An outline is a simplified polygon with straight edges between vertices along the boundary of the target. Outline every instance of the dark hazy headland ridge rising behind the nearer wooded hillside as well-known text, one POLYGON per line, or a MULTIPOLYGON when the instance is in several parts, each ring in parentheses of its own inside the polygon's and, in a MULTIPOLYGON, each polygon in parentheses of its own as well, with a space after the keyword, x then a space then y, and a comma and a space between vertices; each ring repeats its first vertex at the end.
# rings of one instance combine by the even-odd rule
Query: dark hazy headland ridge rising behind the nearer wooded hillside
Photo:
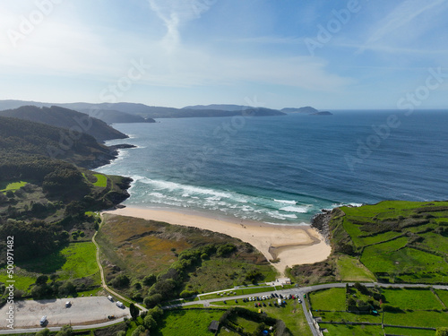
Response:
POLYGON ((13 116, 36 123, 68 128, 73 134, 81 132, 90 134, 99 142, 127 138, 127 135, 110 127, 104 121, 68 108, 22 106, 21 108, 0 111, 0 116, 13 116))

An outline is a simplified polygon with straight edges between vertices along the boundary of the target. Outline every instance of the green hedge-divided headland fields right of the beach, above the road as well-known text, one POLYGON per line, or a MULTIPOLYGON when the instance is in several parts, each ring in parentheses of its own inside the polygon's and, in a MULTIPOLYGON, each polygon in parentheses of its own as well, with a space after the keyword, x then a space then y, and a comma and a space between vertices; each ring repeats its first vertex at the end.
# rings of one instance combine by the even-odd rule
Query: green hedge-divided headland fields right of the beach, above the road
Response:
MULTIPOLYGON (((362 275, 363 264, 390 282, 440 283, 448 276, 448 202, 384 201, 341 207, 331 220, 332 246, 362 264, 338 261, 338 280, 362 275), (358 269, 358 270, 357 270, 358 269), (352 274, 350 274, 352 273, 352 274)), ((448 279, 448 278, 447 278, 448 279)))

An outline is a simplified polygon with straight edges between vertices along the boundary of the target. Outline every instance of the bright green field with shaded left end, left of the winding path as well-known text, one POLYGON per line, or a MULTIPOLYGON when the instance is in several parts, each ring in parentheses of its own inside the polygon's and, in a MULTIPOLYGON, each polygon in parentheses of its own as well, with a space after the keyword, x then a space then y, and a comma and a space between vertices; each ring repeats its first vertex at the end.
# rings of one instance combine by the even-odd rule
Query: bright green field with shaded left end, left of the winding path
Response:
POLYGON ((56 273, 59 280, 77 279, 96 275, 99 268, 96 261, 96 247, 91 242, 72 243, 59 252, 32 259, 18 266, 44 274, 56 273))

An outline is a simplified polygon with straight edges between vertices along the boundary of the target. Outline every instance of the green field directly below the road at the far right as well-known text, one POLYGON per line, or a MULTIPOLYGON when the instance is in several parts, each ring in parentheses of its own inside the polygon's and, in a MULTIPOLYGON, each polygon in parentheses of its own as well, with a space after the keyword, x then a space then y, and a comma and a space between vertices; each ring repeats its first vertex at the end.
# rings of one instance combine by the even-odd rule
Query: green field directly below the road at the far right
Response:
POLYGON ((442 310, 444 306, 429 289, 382 289, 386 302, 401 309, 442 310))

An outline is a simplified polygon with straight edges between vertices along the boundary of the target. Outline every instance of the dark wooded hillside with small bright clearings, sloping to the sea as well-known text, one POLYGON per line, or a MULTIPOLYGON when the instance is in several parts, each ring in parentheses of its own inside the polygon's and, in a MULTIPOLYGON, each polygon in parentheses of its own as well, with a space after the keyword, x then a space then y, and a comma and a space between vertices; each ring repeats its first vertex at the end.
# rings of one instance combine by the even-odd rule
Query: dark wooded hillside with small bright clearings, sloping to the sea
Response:
POLYGON ((86 211, 109 208, 129 196, 130 178, 80 167, 114 155, 90 135, 78 135, 0 116, 0 265, 6 237, 14 237, 14 262, 51 254, 75 239, 73 232, 90 239, 96 220, 86 211))

